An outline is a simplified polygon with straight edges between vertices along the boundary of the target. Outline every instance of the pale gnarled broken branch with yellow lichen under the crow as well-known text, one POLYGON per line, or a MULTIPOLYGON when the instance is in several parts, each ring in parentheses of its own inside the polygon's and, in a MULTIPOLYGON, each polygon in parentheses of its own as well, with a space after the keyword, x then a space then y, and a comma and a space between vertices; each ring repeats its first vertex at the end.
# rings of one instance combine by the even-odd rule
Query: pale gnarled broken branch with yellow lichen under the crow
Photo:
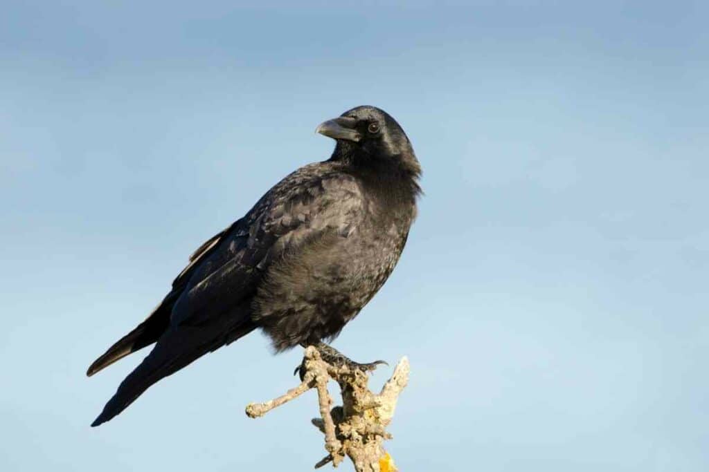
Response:
POLYGON ((246 414, 259 418, 270 410, 287 403, 311 388, 318 391, 320 418, 312 420, 325 435, 328 455, 316 468, 330 462, 337 467, 349 457, 357 472, 394 472, 391 456, 384 450, 385 439, 391 439, 386 427, 391 422, 398 396, 408 383, 409 364, 403 357, 379 393, 369 390, 369 375, 347 367, 337 367, 320 358, 315 347, 308 347, 303 358, 303 381, 284 395, 264 403, 250 403, 246 414), (342 406, 332 408, 328 381, 340 385, 342 406))

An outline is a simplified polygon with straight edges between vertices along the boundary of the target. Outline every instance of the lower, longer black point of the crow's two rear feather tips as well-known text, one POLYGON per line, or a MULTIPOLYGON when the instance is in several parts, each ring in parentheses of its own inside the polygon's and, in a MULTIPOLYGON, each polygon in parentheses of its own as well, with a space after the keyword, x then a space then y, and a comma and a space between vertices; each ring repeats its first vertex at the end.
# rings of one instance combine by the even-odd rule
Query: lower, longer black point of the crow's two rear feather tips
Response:
MULTIPOLYGON (((230 338, 241 338, 254 328, 251 323, 247 323, 233 330, 230 338)), ((155 382, 174 374, 198 357, 224 345, 224 335, 214 334, 212 330, 205 329, 203 326, 169 328, 157 341, 152 352, 121 382, 116 394, 106 403, 101 415, 91 423, 91 426, 98 426, 111 420, 128 408, 130 403, 133 403, 155 382)))

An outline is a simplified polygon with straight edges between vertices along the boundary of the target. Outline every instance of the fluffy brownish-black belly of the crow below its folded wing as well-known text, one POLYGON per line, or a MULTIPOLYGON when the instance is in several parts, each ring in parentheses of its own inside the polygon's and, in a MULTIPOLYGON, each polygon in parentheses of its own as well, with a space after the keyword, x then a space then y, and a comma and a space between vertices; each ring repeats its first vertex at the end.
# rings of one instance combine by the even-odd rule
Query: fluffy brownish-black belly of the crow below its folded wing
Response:
POLYGON ((335 232, 269 267, 252 318, 277 350, 332 338, 386 282, 411 219, 369 216, 348 234, 335 232))

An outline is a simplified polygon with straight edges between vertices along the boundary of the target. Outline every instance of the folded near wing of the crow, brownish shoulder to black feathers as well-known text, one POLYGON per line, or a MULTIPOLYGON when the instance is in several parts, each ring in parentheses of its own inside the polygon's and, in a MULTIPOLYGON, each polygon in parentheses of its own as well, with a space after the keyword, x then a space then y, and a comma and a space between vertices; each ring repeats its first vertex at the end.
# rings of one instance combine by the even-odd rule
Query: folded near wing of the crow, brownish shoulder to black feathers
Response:
POLYGON ((364 213, 357 180, 317 170, 306 166, 289 175, 244 218, 203 244, 175 280, 182 293, 172 308, 173 325, 228 314, 255 292, 274 258, 301 251, 326 232, 347 237, 354 231, 364 213))

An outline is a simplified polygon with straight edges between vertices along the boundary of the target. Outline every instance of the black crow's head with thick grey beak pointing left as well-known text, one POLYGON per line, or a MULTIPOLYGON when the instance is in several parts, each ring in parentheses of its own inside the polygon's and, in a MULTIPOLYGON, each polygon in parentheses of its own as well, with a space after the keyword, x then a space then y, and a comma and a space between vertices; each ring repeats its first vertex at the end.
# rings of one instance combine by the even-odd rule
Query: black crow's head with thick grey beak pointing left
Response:
POLYGON ((359 106, 321 123, 316 132, 337 141, 331 159, 363 166, 396 166, 418 177, 421 167, 401 126, 384 110, 359 106))

